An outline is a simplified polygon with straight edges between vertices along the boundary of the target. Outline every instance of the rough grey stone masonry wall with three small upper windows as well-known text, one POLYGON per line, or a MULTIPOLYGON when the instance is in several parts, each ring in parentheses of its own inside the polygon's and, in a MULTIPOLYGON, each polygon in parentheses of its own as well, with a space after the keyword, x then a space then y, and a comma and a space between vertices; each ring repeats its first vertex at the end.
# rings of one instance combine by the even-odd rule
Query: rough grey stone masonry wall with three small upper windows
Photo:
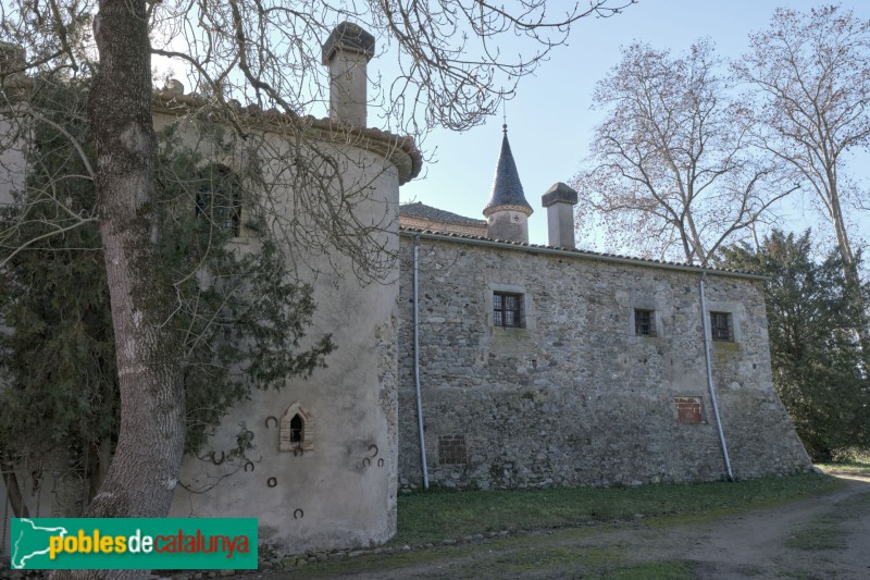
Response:
MULTIPOLYGON (((399 484, 422 484, 413 381, 413 237, 401 236, 399 484)), ((636 485, 716 480, 724 460, 706 381, 699 273, 420 240, 420 378, 431 482, 636 485), (493 292, 525 328, 493 326, 493 292), (637 336, 634 309, 654 310, 637 336)), ((707 276, 713 380, 736 478, 809 466, 776 396, 759 281, 707 276)))

